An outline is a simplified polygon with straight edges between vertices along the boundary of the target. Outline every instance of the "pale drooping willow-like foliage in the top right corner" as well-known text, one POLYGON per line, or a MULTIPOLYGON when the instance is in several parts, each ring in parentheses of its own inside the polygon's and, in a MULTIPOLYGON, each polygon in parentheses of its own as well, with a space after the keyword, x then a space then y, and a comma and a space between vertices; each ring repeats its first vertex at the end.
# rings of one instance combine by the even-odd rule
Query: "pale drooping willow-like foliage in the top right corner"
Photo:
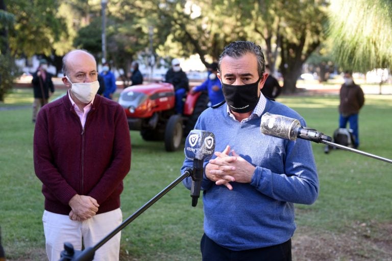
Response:
POLYGON ((392 65, 390 0, 332 0, 329 34, 345 69, 366 72, 392 65))

